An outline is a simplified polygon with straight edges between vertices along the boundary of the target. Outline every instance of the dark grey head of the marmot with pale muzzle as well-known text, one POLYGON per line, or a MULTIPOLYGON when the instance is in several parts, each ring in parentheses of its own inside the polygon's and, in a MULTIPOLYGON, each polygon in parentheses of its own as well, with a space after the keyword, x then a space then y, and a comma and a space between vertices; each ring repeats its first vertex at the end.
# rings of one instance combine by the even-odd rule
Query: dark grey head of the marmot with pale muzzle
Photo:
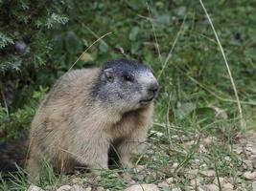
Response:
POLYGON ((151 68, 128 59, 106 62, 93 88, 93 96, 118 112, 151 103, 158 91, 151 68))

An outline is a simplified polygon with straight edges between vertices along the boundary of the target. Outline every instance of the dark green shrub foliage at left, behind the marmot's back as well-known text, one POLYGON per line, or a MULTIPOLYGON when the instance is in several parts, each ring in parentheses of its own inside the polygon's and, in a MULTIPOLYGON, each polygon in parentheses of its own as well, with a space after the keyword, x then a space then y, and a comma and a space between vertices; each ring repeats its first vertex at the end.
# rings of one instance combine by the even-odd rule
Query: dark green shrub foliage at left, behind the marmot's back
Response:
POLYGON ((39 88, 36 80, 53 49, 51 32, 68 22, 68 7, 66 1, 0 1, 0 137, 17 138, 28 129, 35 104, 27 97, 39 88))

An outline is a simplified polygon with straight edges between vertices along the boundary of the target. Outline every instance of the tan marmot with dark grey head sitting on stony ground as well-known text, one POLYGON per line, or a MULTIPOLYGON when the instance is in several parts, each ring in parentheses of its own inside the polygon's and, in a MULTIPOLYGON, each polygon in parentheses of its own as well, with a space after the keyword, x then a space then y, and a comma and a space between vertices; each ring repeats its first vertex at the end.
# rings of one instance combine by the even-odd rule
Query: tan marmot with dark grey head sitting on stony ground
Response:
POLYGON ((78 165, 108 168, 111 147, 132 167, 131 155, 145 147, 158 87, 150 67, 124 58, 62 75, 31 125, 30 180, 38 179, 43 160, 64 173, 78 165))

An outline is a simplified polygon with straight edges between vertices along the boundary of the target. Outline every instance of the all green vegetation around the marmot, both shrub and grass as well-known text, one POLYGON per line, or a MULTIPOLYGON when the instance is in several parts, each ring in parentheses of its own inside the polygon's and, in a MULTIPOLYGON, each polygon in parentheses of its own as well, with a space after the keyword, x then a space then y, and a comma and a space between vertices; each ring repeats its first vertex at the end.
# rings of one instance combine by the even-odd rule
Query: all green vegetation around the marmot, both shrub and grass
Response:
MULTIPOLYGON (((256 129, 256 3, 204 4, 236 84, 244 127, 220 44, 199 1, 0 0, 0 140, 27 134, 42 97, 84 50, 73 68, 127 56, 149 63, 161 85, 150 149, 136 160, 159 173, 138 181, 175 177, 175 184, 184 187, 182 169, 202 164, 236 180, 242 161, 232 146, 238 135, 256 129), (199 155, 207 137, 217 138, 218 144, 211 143, 199 155), (192 141, 189 148, 183 145, 187 141, 192 141), (225 157, 230 158, 228 164, 225 157)), ((115 170, 106 172, 102 185, 111 190, 126 187, 127 182, 113 174, 115 170)), ((46 175, 42 187, 69 180, 46 175)), ((0 189, 28 187, 23 170, 14 177, 3 180, 0 189)))

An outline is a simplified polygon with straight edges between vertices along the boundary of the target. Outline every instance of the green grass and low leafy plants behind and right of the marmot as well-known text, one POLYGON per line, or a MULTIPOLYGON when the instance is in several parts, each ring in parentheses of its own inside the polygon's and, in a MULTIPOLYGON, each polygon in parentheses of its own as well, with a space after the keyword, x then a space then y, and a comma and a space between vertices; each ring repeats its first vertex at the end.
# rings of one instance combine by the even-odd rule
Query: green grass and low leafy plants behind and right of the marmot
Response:
MULTIPOLYGON (((128 180, 117 173, 128 171, 138 182, 158 183, 174 177, 175 185, 184 188, 189 183, 186 171, 195 168, 213 169, 217 177, 227 176, 236 182, 243 161, 234 153, 232 145, 239 133, 256 130, 255 3, 216 0, 204 4, 216 33, 212 31, 199 1, 133 0, 81 3, 76 14, 69 15, 69 24, 49 36, 55 47, 50 54, 55 63, 52 67, 57 71, 54 78, 68 71, 73 63, 76 63, 74 68, 81 68, 120 57, 122 48, 128 57, 149 63, 161 85, 155 102, 154 131, 149 134, 149 149, 134 159, 145 165, 146 170, 138 173, 124 169, 105 171, 101 180, 86 173, 78 175, 85 179, 84 184, 122 190, 128 185, 128 180), (108 32, 111 33, 97 40, 108 32), (215 34, 221 42, 216 41, 215 34), (220 44, 236 88, 230 82, 220 44), (90 49, 78 61, 86 50, 83 47, 90 49), (238 92, 241 109, 234 90, 238 92), (245 126, 241 125, 241 111, 245 126), (215 140, 202 152, 200 145, 204 145, 206 137, 215 140), (185 144, 188 141, 190 145, 185 144)), ((44 70, 50 69, 46 66, 44 70)), ((25 104, 21 101, 10 111, 12 122, 4 120, 8 117, 0 108, 0 119, 5 122, 0 127, 5 131, 12 129, 7 133, 8 139, 16 138, 24 128, 28 129, 33 117, 31 110, 48 90, 44 88, 54 81, 43 80, 53 75, 51 73, 38 72, 37 75, 35 89, 22 90, 25 104), (38 89, 38 84, 44 88, 38 89), (32 95, 33 100, 30 99, 32 95), (28 115, 21 116, 18 108, 22 109, 22 114, 27 112, 28 115), (17 128, 17 121, 21 130, 17 128)), ((58 176, 51 168, 47 169, 45 179, 40 182, 43 188, 47 185, 58 188, 73 178, 58 176)), ((20 169, 12 181, 2 180, 0 190, 25 190, 29 184, 24 173, 20 169)), ((213 179, 204 181, 212 182, 213 179)), ((248 184, 248 181, 244 182, 248 184)))

